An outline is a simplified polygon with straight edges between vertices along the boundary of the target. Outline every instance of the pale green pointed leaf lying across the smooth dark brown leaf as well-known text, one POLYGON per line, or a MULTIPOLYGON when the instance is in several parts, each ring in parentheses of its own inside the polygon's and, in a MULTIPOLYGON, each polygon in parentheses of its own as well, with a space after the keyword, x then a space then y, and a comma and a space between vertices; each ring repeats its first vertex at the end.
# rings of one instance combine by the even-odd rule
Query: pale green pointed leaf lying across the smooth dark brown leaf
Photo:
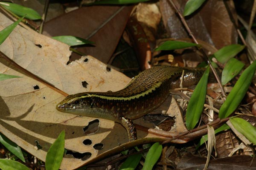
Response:
POLYGON ((67 45, 70 45, 70 46, 83 45, 83 44, 94 44, 95 43, 95 42, 85 40, 85 39, 80 38, 80 37, 69 36, 69 35, 56 36, 56 37, 52 37, 52 38, 55 39, 55 40, 64 42, 64 43, 66 43, 67 45))

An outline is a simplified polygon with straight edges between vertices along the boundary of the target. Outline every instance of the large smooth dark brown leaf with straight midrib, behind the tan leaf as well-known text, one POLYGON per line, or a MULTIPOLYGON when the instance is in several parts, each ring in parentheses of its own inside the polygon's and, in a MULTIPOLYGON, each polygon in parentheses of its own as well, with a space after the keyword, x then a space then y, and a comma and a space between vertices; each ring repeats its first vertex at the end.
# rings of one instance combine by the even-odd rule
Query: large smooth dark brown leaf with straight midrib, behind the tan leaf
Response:
MULTIPOLYGON (((43 34, 89 39, 95 44, 78 47, 77 50, 107 63, 122 36, 131 9, 132 6, 82 7, 45 23, 43 34)), ((72 55, 74 59, 80 58, 77 54, 72 55)))

